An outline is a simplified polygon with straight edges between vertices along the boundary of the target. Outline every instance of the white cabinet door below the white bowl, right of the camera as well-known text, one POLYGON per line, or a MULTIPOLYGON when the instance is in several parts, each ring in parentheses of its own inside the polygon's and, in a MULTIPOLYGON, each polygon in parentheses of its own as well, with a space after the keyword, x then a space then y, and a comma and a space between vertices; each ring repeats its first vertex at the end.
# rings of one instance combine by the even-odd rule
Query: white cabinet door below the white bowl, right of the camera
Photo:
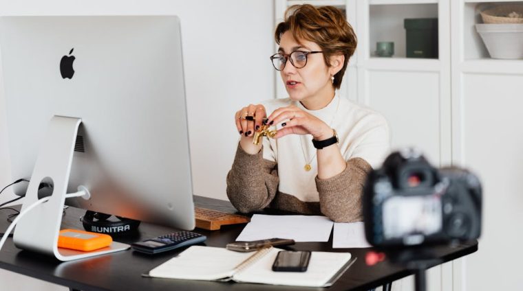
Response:
POLYGON ((456 291, 523 290, 512 247, 523 240, 523 232, 510 227, 523 220, 522 83, 523 74, 462 75, 461 107, 454 115, 456 163, 480 176, 483 220, 480 251, 465 257, 462 274, 455 273, 467 289, 456 291))

